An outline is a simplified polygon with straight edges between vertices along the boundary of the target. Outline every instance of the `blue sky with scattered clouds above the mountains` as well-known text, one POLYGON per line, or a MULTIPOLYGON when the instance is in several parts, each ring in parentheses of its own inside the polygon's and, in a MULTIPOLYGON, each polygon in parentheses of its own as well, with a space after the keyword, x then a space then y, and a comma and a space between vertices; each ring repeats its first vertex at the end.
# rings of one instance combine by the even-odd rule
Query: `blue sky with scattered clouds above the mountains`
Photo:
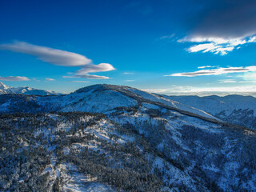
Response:
POLYGON ((256 92, 253 0, 2 0, 0 29, 7 86, 256 92))

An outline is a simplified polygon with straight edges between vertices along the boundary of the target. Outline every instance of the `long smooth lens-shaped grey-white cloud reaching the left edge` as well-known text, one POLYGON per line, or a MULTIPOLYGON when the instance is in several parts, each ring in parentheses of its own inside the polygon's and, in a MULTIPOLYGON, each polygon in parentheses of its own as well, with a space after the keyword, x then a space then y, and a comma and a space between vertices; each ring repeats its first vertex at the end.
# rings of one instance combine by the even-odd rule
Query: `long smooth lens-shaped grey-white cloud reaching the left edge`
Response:
POLYGON ((66 50, 56 50, 46 46, 35 46, 27 42, 13 42, 0 45, 2 50, 12 50, 22 54, 31 54, 43 62, 57 66, 84 66, 92 61, 81 54, 66 50))

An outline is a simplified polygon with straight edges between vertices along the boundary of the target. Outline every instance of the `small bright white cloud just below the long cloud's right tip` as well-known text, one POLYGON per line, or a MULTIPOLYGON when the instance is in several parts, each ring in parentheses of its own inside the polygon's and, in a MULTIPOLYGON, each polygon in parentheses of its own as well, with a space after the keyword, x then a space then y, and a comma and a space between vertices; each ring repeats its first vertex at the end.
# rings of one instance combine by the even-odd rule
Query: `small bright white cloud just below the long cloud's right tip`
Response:
POLYGON ((111 66, 109 63, 100 63, 98 65, 88 64, 82 67, 81 70, 78 70, 76 74, 88 74, 88 73, 103 72, 103 71, 110 71, 110 70, 115 70, 115 69, 114 69, 114 66, 111 66))

